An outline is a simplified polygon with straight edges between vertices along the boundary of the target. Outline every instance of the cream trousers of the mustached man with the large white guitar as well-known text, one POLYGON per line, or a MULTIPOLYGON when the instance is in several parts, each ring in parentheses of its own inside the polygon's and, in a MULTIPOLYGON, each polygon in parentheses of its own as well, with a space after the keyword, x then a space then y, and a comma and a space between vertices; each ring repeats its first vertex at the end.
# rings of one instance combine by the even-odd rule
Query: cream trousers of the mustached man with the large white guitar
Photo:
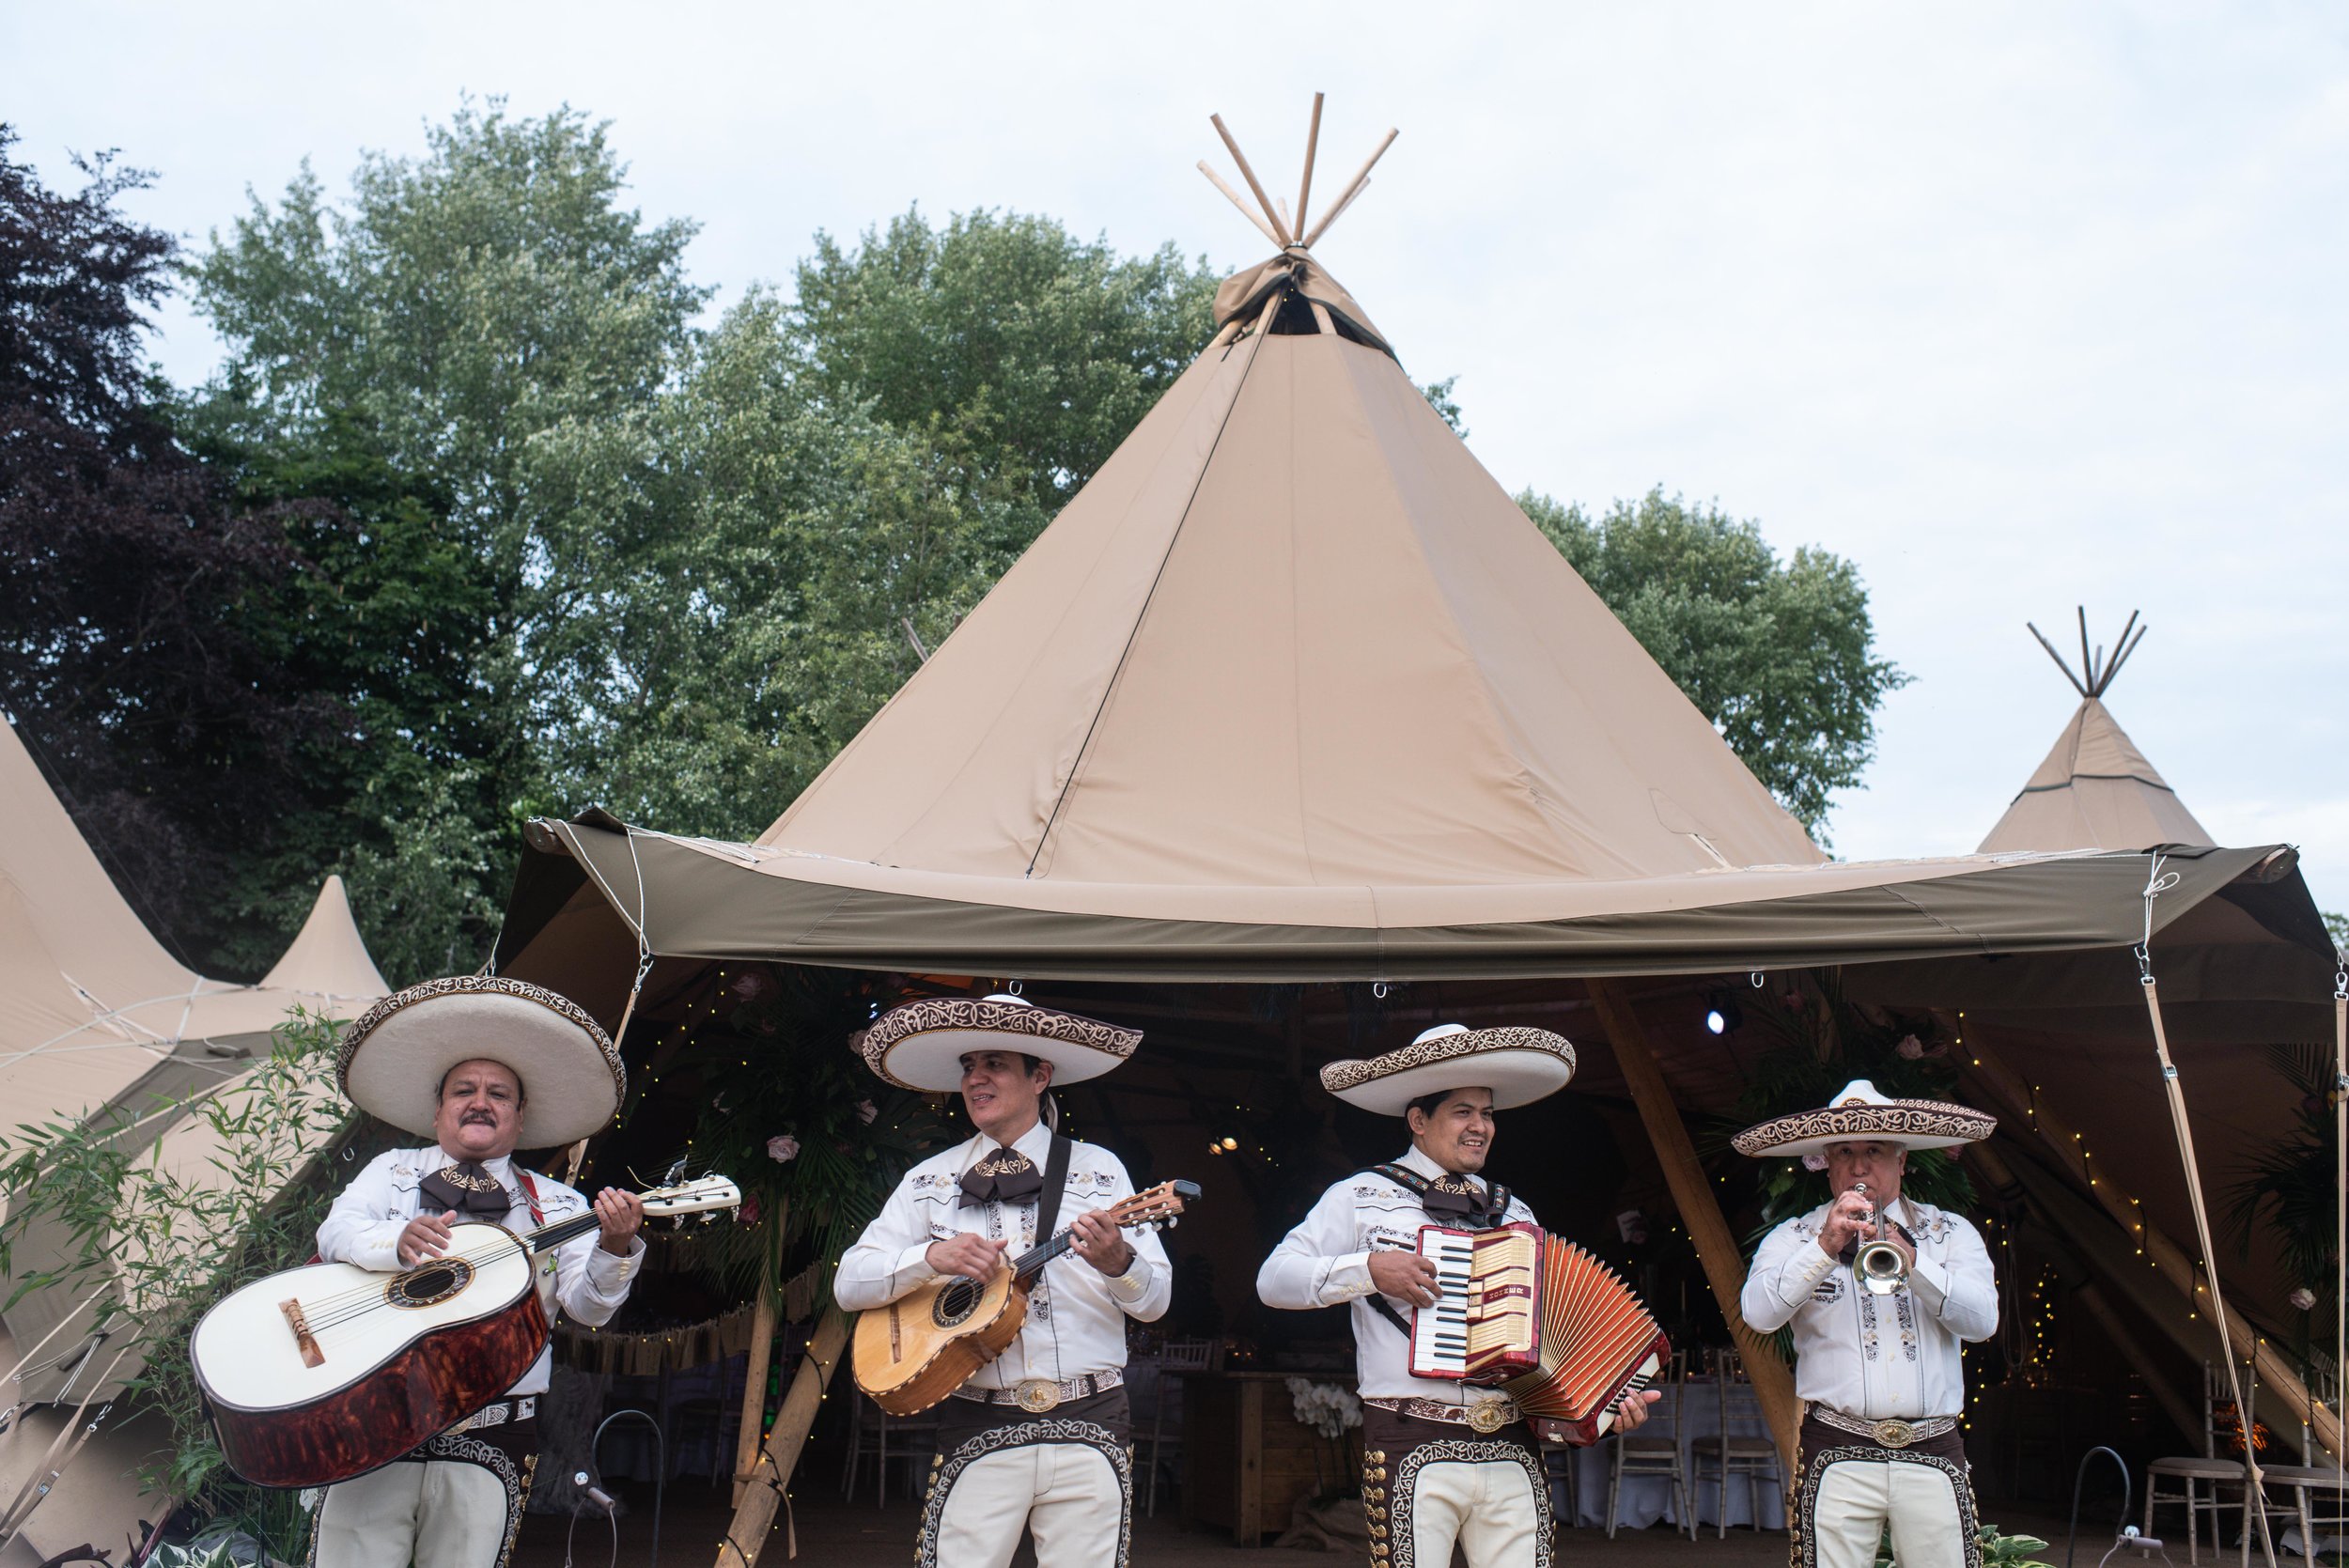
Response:
POLYGON ((399 1460, 327 1488, 315 1568, 498 1568, 514 1516, 482 1465, 399 1460))

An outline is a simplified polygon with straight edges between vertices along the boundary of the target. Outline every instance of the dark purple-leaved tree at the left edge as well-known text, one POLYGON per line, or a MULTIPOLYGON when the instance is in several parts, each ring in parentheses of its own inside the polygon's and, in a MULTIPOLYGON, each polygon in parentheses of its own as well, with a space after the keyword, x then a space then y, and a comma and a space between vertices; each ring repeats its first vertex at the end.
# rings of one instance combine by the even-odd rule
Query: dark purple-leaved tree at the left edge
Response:
POLYGON ((289 519, 226 505, 141 371, 174 242, 117 200, 148 176, 99 157, 66 195, 12 146, 0 127, 0 704, 186 951, 338 709, 247 615, 296 575, 289 519))

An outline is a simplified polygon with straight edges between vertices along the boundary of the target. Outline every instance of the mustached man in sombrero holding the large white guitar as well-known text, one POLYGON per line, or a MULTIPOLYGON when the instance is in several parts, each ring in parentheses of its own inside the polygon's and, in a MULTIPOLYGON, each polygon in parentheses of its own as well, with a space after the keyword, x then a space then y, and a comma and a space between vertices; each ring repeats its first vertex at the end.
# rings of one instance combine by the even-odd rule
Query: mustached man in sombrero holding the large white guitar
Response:
MULTIPOLYGON (((561 1148, 611 1124, 627 1073, 576 1002, 484 974, 425 981, 376 1002, 336 1063, 350 1103, 423 1148, 378 1155, 317 1228, 327 1263, 395 1272, 435 1258, 449 1228, 486 1221, 526 1232, 587 1214, 597 1230, 538 1261, 547 1322, 559 1307, 604 1324, 644 1256, 644 1204, 604 1188, 594 1204, 521 1169, 514 1148, 561 1148)), ((505 1568, 538 1462, 540 1352, 496 1404, 413 1453, 329 1486, 310 1535, 315 1568, 505 1568)))

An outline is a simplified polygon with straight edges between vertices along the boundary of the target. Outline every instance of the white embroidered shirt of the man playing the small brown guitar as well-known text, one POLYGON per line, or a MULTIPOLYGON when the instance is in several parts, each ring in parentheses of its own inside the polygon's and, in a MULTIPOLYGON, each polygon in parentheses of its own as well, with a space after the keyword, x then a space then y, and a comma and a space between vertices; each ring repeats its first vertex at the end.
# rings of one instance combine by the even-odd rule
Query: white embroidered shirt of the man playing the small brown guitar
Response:
MULTIPOLYGON (((1052 1129, 1043 1122, 1012 1143, 1038 1171, 1052 1153, 1052 1129)), ((914 1286, 937 1279, 930 1242, 980 1235, 1010 1242, 1005 1263, 1036 1246, 1036 1202, 963 1204, 963 1171, 996 1150, 989 1136, 930 1155, 897 1183, 881 1214, 841 1258, 832 1296, 850 1312, 886 1307, 914 1286)), ((1076 1216, 1132 1197, 1125 1164, 1097 1143, 1069 1141, 1069 1178, 1055 1230, 1076 1216)), ((1111 1279, 1076 1251, 1045 1263, 1029 1296, 1027 1324, 1003 1354, 970 1376, 965 1387, 1012 1387, 1022 1378, 1066 1383, 1125 1366, 1125 1319, 1156 1322, 1174 1296, 1174 1268, 1156 1230, 1125 1230, 1135 1249, 1132 1268, 1111 1279)))

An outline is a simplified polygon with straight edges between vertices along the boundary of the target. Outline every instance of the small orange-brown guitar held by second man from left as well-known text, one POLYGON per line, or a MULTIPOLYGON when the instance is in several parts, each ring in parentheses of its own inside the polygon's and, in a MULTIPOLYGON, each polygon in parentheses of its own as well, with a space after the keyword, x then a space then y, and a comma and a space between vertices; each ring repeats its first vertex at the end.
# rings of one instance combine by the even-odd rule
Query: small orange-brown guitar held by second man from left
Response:
MULTIPOLYGON (((1174 1225, 1186 1202, 1198 1202, 1196 1181, 1160 1181, 1146 1192, 1109 1207, 1120 1230, 1174 1225)), ((1069 1251, 1071 1232, 996 1268, 987 1284, 947 1275, 914 1286, 886 1307, 857 1314, 850 1368, 857 1387, 890 1415, 918 1415, 963 1387, 1003 1347, 1019 1338, 1029 1289, 1052 1258, 1069 1251)))

